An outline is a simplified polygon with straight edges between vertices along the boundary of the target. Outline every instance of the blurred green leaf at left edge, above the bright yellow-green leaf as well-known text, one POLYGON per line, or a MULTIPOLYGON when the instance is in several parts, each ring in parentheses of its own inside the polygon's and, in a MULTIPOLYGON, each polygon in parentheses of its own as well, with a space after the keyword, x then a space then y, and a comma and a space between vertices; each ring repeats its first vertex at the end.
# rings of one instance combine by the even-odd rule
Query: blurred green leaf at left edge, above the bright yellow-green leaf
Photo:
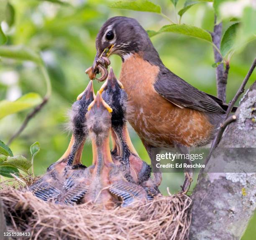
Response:
POLYGON ((42 59, 39 54, 22 45, 0 46, 0 56, 16 60, 33 61, 38 64, 42 64, 42 59))

